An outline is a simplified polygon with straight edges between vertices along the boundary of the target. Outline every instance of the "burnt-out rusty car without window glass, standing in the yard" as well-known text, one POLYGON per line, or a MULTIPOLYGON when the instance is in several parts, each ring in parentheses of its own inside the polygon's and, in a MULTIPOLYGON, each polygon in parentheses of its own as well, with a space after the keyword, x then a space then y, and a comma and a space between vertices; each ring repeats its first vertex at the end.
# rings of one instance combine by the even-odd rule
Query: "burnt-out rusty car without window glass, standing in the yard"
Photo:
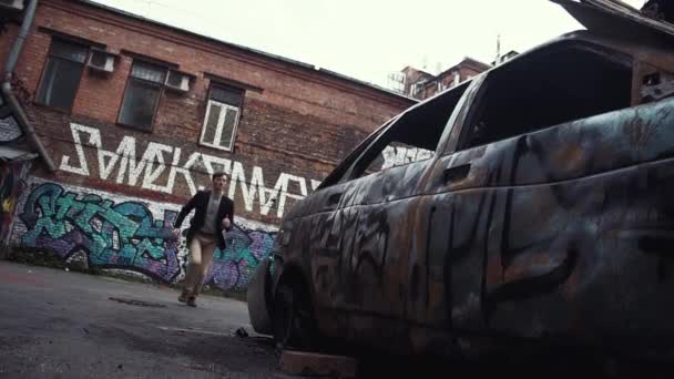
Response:
POLYGON ((586 30, 411 106, 287 212, 249 288, 257 331, 409 355, 672 351, 674 27, 555 2, 586 30))

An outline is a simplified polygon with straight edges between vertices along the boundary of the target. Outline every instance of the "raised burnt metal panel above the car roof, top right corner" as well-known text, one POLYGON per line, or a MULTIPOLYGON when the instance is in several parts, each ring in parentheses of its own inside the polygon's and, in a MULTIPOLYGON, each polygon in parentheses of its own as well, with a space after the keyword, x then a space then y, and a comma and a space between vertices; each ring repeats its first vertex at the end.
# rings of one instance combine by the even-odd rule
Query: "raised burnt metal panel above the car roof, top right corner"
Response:
POLYGON ((674 38, 674 24, 652 19, 620 0, 550 0, 562 6, 583 27, 593 32, 623 38, 674 38))

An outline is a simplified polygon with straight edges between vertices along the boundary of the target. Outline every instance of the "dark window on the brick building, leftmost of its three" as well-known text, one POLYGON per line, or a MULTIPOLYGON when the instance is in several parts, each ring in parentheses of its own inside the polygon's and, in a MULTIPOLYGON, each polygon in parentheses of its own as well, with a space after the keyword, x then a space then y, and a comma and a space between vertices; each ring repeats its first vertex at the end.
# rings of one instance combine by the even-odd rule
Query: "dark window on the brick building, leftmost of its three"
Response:
POLYGON ((37 102, 70 111, 75 100, 88 53, 88 47, 52 40, 37 102))

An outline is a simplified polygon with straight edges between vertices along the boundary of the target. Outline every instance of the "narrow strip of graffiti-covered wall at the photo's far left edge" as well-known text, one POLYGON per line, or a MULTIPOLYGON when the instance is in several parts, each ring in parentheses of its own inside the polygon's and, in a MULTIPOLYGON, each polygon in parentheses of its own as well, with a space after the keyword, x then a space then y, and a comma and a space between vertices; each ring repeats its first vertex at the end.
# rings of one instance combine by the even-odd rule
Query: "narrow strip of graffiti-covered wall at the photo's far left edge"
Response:
POLYGON ((25 186, 25 175, 30 163, 0 163, 0 242, 2 245, 9 237, 12 215, 19 196, 25 186))

